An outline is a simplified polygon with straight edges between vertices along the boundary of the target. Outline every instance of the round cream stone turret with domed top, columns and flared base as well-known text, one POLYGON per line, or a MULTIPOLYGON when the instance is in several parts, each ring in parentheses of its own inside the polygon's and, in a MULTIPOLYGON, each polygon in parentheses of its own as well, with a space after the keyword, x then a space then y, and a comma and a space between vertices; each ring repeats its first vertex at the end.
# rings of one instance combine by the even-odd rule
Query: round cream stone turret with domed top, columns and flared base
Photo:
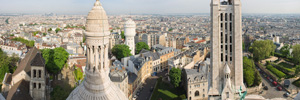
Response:
POLYGON ((86 76, 67 100, 128 100, 108 77, 109 35, 108 17, 100 1, 97 0, 86 22, 86 76))

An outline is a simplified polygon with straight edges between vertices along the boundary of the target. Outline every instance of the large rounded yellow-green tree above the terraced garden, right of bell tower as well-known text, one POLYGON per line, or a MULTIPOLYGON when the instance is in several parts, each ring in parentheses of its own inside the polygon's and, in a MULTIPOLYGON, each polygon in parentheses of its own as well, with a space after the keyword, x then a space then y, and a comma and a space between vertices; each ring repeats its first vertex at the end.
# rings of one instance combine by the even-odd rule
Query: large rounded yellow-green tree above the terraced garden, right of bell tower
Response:
POLYGON ((270 57, 275 52, 275 48, 276 46, 271 40, 254 41, 251 45, 255 61, 260 61, 270 57))

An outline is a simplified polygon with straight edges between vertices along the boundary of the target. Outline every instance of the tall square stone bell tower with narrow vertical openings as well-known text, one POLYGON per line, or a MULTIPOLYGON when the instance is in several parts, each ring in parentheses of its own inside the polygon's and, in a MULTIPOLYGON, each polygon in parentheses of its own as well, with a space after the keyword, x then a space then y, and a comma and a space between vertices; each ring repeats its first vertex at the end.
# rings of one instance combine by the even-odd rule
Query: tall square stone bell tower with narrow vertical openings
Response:
POLYGON ((211 72, 209 99, 237 99, 243 84, 240 0, 211 0, 211 72))

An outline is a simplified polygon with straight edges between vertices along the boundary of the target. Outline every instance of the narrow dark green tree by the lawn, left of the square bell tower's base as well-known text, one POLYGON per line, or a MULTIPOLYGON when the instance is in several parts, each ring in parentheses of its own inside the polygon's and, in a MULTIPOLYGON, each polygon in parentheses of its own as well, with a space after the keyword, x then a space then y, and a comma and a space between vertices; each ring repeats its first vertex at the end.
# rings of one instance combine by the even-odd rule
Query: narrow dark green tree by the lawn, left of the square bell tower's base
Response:
POLYGON ((169 72, 171 84, 177 88, 179 87, 179 83, 181 82, 181 69, 179 68, 172 68, 169 72))

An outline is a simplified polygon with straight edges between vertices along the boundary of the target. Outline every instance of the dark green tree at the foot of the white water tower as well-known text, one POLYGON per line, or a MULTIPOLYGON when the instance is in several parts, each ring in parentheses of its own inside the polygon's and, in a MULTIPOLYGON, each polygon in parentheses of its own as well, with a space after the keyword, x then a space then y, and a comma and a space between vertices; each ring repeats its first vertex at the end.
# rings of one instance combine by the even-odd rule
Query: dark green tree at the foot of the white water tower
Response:
POLYGON ((111 51, 112 54, 115 55, 118 60, 132 55, 130 53, 131 50, 127 45, 115 45, 111 51))

